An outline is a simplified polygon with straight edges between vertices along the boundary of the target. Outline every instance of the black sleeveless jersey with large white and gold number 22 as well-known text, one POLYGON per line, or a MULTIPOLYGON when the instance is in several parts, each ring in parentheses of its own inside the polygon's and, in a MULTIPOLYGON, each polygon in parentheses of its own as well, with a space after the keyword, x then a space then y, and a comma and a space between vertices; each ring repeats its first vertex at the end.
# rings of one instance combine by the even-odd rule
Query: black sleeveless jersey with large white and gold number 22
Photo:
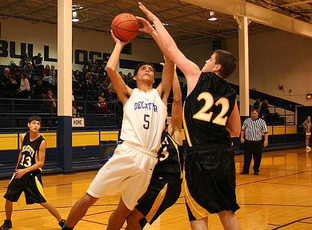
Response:
POLYGON ((207 143, 232 145, 226 130, 236 92, 214 73, 202 73, 183 108, 183 125, 189 147, 207 143))

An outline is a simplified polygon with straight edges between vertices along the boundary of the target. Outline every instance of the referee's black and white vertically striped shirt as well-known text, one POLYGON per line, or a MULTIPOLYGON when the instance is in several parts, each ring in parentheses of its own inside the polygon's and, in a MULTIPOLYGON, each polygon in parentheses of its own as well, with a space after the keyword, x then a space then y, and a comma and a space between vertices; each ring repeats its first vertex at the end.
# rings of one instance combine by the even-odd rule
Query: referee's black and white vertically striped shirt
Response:
POLYGON ((260 141, 262 139, 262 133, 268 133, 265 121, 261 118, 253 120, 248 118, 242 124, 241 130, 245 132, 247 141, 260 141))

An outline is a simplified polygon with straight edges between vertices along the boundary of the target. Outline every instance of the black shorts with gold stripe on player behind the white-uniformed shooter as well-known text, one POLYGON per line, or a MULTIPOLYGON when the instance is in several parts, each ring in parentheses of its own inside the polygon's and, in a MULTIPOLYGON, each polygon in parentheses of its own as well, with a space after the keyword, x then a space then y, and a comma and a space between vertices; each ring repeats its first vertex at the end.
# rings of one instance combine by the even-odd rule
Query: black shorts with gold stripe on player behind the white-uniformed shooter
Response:
POLYGON ((181 194, 181 184, 182 179, 170 175, 151 179, 147 191, 135 207, 145 216, 140 220, 142 228, 147 222, 152 224, 175 203, 181 194))

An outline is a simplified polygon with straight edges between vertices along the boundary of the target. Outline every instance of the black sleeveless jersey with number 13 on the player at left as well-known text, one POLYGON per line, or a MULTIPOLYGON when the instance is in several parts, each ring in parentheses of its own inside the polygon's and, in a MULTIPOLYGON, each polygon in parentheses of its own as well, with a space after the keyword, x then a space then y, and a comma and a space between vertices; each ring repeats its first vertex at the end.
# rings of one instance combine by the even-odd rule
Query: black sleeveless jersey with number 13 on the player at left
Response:
MULTIPOLYGON (((30 141, 29 132, 26 133, 23 145, 21 147, 21 158, 19 160, 17 169, 26 169, 38 162, 38 151, 41 145, 41 142, 44 138, 39 135, 39 137, 33 142, 30 141)), ((42 171, 41 168, 34 171, 42 171)))

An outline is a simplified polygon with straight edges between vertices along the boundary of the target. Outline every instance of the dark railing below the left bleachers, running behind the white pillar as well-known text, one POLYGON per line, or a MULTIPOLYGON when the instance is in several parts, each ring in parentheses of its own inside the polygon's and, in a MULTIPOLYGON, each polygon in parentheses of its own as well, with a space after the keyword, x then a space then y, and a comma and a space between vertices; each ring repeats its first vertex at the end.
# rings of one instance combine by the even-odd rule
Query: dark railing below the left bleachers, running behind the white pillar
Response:
MULTIPOLYGON (((43 109, 43 102, 52 100, 0 99, 0 132, 28 131, 27 121, 32 115, 41 118, 41 131, 57 130, 57 113, 43 109)), ((57 102, 57 101, 56 101, 57 102)), ((105 101, 109 110, 97 106, 97 101, 75 101, 77 114, 84 118, 84 127, 73 127, 73 130, 112 130, 119 129, 122 119, 122 108, 115 102, 105 101)))

